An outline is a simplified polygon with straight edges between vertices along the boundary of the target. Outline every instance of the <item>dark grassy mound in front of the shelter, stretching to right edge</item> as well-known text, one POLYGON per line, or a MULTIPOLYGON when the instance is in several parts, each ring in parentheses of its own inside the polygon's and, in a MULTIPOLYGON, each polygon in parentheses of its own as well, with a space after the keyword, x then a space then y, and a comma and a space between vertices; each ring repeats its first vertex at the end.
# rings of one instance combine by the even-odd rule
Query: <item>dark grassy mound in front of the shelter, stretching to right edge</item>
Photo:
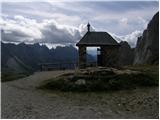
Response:
POLYGON ((128 66, 127 68, 139 71, 137 74, 115 74, 101 72, 65 74, 47 80, 39 88, 62 91, 108 91, 134 89, 142 86, 158 86, 159 72, 157 66, 128 66), (84 79, 84 85, 77 85, 78 79, 84 79))

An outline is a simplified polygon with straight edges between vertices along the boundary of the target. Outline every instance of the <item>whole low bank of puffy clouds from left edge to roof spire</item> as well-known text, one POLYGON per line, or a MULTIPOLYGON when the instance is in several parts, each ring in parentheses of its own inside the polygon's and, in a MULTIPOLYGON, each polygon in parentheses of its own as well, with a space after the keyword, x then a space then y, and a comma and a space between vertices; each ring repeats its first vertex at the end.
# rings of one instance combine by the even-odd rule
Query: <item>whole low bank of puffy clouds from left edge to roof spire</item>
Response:
POLYGON ((53 19, 37 22, 21 15, 0 20, 2 41, 7 42, 75 44, 86 33, 85 26, 62 25, 53 19))

